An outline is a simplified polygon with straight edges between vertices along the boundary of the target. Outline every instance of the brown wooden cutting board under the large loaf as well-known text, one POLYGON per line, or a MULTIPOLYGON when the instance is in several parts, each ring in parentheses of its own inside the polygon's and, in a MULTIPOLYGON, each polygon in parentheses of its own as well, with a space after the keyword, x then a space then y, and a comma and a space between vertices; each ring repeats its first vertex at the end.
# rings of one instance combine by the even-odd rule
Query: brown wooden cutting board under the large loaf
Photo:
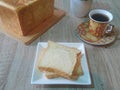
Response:
POLYGON ((34 40, 40 37, 44 32, 49 30, 53 25, 55 25, 60 19, 65 16, 65 12, 62 10, 54 10, 53 16, 45 20, 43 23, 38 25, 32 32, 29 32, 27 36, 18 35, 12 31, 6 31, 4 29, 0 29, 1 32, 6 35, 13 37, 16 40, 23 42, 26 45, 31 44, 34 40))

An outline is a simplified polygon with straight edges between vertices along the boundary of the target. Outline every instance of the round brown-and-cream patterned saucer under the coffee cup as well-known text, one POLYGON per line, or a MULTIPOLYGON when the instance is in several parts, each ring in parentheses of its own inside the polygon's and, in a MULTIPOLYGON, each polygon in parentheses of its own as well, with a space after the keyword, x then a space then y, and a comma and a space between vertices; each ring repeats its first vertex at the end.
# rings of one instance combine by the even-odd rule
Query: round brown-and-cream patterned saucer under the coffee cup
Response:
POLYGON ((89 23, 88 22, 84 22, 81 23, 78 28, 76 29, 76 36, 88 43, 88 44, 92 44, 92 45, 108 45, 113 43, 116 40, 116 31, 115 29, 113 29, 113 32, 111 35, 106 35, 103 36, 102 38, 96 38, 95 36, 93 36, 92 34, 90 34, 89 31, 89 23))

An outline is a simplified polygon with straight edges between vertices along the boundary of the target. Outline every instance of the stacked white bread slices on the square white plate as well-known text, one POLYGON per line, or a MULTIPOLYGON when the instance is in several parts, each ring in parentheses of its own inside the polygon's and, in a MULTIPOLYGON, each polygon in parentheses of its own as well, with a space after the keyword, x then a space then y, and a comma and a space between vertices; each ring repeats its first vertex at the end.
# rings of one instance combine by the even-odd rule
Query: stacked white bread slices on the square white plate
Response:
POLYGON ((77 48, 48 41, 48 47, 43 48, 39 55, 37 67, 48 79, 63 77, 76 80, 83 75, 81 57, 77 48))

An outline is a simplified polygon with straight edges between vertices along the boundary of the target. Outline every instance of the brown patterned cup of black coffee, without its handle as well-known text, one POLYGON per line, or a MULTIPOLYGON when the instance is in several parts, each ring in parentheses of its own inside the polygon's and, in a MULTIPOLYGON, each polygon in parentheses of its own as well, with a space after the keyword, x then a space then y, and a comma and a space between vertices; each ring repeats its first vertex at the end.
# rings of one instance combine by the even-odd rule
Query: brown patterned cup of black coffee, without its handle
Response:
POLYGON ((94 9, 89 12, 89 33, 97 38, 102 38, 110 26, 113 15, 103 9, 94 9))

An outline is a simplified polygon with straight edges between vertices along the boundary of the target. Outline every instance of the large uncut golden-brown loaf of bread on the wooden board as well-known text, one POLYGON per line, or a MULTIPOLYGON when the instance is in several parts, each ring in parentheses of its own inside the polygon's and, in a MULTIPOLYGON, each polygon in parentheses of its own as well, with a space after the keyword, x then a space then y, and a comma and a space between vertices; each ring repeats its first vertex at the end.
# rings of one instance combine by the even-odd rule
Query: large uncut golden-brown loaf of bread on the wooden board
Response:
POLYGON ((28 35, 53 13, 54 0, 0 0, 0 26, 19 35, 28 35))

